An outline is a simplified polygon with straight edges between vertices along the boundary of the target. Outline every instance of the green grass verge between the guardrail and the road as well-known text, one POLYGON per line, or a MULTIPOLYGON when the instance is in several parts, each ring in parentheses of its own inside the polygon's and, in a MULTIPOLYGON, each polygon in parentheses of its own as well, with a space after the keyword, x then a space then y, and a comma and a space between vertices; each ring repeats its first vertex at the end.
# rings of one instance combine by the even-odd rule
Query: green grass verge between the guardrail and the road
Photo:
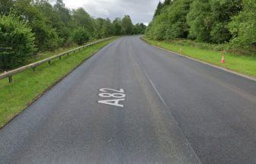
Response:
POLYGON ((8 83, 8 78, 0 80, 0 128, 21 113, 40 93, 114 39, 66 55, 61 60, 56 59, 50 65, 48 63, 40 65, 36 71, 27 70, 15 74, 11 84, 8 83))

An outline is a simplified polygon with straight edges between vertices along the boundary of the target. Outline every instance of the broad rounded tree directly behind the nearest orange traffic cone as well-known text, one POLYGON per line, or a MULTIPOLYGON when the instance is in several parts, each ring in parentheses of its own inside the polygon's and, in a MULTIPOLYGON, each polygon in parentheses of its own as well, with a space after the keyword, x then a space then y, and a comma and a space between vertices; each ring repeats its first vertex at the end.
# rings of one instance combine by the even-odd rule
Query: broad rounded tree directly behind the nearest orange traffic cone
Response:
POLYGON ((227 25, 241 8, 241 0, 195 0, 187 14, 190 37, 200 42, 228 42, 232 34, 227 25))

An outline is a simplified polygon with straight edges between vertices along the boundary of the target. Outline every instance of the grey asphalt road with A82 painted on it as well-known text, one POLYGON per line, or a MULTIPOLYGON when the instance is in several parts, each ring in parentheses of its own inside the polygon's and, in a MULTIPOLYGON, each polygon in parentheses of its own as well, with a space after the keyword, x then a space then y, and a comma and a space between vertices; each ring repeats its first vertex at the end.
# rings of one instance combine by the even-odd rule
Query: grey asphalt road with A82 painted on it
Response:
POLYGON ((256 163, 256 82, 125 36, 2 128, 0 160, 256 163))

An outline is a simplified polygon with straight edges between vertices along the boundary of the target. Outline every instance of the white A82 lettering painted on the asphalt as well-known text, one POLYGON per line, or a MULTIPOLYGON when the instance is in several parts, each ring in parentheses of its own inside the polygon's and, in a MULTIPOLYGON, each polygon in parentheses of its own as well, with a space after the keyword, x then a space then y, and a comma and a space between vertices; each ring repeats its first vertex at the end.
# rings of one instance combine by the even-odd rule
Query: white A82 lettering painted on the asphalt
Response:
POLYGON ((123 104, 120 104, 120 102, 124 101, 126 97, 126 94, 124 93, 123 89, 113 90, 110 88, 101 88, 100 91, 101 93, 99 93, 98 96, 103 98, 114 98, 114 99, 99 100, 98 103, 107 104, 109 106, 118 106, 123 108, 123 104))

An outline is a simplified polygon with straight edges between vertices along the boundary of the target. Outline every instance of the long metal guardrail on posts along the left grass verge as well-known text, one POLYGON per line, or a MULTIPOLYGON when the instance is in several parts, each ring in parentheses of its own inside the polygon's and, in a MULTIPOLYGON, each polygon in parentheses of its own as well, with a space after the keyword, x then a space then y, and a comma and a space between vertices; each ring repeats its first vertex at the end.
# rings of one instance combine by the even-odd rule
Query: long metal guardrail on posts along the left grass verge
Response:
POLYGON ((61 53, 61 54, 59 54, 59 55, 53 55, 53 56, 50 57, 50 58, 45 58, 45 59, 43 59, 43 60, 41 60, 41 61, 37 61, 37 62, 31 63, 30 65, 24 65, 24 66, 21 67, 21 68, 16 68, 16 69, 14 69, 14 70, 7 71, 7 72, 5 72, 5 73, 3 73, 3 74, 0 74, 0 80, 1 80, 1 79, 4 79, 5 77, 8 77, 8 78, 9 78, 9 83, 11 83, 11 81, 12 81, 12 75, 14 75, 14 74, 18 74, 18 73, 20 73, 21 71, 25 71, 25 70, 27 70, 27 69, 29 69, 29 68, 32 68, 33 71, 35 71, 37 66, 42 65, 42 64, 45 63, 45 62, 48 62, 48 63, 50 64, 50 61, 52 61, 52 60, 54 60, 54 59, 56 59, 56 58, 59 58, 59 59, 60 59, 60 58, 61 58, 62 56, 64 56, 64 55, 69 55, 69 54, 72 53, 72 52, 80 51, 81 49, 85 49, 86 47, 89 47, 89 46, 94 46, 94 45, 96 45, 96 44, 98 44, 98 43, 101 43, 101 42, 106 41, 106 40, 108 40, 108 39, 112 39, 112 38, 114 38, 114 37, 115 37, 115 36, 109 37, 109 38, 106 38, 106 39, 101 39, 101 40, 98 40, 97 42, 89 43, 89 44, 86 44, 85 46, 80 46, 80 47, 78 47, 78 48, 76 48, 76 49, 72 49, 72 50, 69 50, 69 51, 67 51, 67 52, 63 52, 63 53, 61 53))

